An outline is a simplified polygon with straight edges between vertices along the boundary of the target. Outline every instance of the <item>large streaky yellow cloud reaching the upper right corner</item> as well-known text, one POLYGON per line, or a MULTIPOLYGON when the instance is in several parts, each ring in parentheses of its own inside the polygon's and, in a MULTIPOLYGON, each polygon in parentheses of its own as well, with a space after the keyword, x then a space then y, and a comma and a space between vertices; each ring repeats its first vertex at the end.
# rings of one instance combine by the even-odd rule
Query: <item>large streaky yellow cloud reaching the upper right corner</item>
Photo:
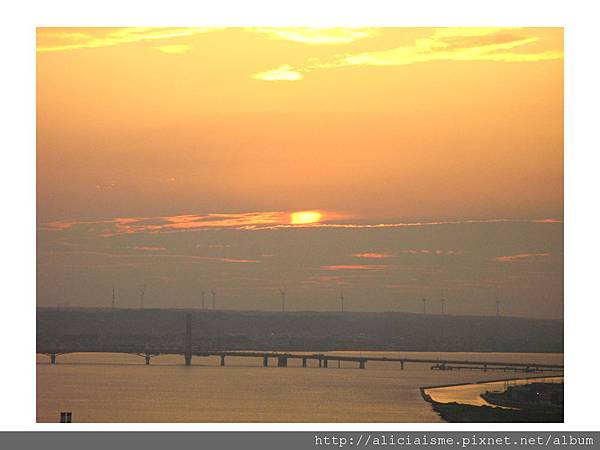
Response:
POLYGON ((530 44, 539 43, 542 39, 527 33, 532 31, 515 28, 441 28, 428 37, 415 39, 411 45, 339 54, 322 62, 285 67, 289 72, 306 73, 339 67, 405 66, 430 61, 532 62, 563 58, 562 48, 524 51, 530 44))

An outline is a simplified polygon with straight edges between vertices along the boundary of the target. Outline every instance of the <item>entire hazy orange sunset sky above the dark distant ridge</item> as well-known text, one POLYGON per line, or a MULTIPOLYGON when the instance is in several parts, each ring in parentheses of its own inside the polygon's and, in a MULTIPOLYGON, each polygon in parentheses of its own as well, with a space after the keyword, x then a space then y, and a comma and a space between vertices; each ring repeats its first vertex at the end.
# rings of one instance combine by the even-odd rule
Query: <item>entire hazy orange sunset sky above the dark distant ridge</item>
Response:
POLYGON ((562 317, 562 29, 39 28, 36 59, 40 306, 562 317))

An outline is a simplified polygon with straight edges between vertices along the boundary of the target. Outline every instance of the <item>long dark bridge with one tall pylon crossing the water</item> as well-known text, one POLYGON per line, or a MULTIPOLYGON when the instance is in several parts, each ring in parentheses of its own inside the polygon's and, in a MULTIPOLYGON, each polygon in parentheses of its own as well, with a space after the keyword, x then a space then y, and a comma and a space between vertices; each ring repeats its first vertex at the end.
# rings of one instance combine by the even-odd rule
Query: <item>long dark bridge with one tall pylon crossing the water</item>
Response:
POLYGON ((208 357, 218 356, 220 365, 225 366, 227 357, 244 357, 244 358, 261 358, 263 367, 269 366, 269 360, 277 361, 277 367, 287 367, 288 360, 302 360, 302 367, 308 367, 308 361, 317 361, 320 368, 329 367, 330 362, 337 362, 338 367, 341 362, 354 362, 359 369, 365 369, 367 362, 390 362, 399 363, 400 368, 404 370, 406 364, 433 364, 431 369, 436 370, 460 370, 460 369, 479 369, 487 371, 492 370, 515 370, 524 372, 542 372, 553 371, 560 372, 564 370, 563 365, 559 364, 540 364, 540 363, 515 363, 502 361, 475 361, 475 360, 458 360, 445 358, 405 358, 405 357, 386 357, 386 356, 349 356, 335 355, 325 353, 286 353, 275 351, 242 351, 242 350, 207 350, 194 348, 192 345, 192 317, 191 314, 186 315, 186 333, 185 341, 182 347, 166 347, 147 345, 88 345, 88 346, 40 346, 37 349, 38 354, 45 354, 50 357, 50 363, 56 364, 56 358, 59 355, 67 353, 125 353, 141 356, 149 365, 153 357, 159 355, 183 355, 186 366, 192 364, 192 357, 208 357))

